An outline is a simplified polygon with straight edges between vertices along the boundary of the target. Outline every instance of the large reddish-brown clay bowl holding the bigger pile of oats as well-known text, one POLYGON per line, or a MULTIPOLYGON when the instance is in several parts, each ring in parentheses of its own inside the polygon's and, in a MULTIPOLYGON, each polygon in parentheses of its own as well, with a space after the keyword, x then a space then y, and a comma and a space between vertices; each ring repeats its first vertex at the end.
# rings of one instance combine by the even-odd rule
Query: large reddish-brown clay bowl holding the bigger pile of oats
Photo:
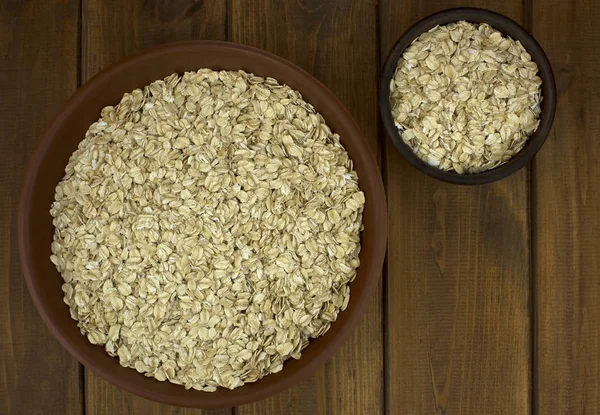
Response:
MULTIPOLYGON (((352 332, 374 293, 386 248, 386 201, 377 162, 363 134, 342 103, 319 81, 291 63, 264 51, 227 42, 194 41, 160 46, 111 66, 81 87, 50 125, 27 170, 19 209, 19 249, 29 292, 42 318, 62 345, 87 368, 115 385, 159 402, 190 407, 224 407, 266 398, 315 372, 352 332), (299 360, 290 359, 279 373, 234 390, 186 390, 148 378, 119 365, 101 346, 92 345, 63 303, 62 278, 50 262, 54 227, 49 214, 54 188, 69 156, 106 105, 125 92, 144 87, 173 72, 199 68, 244 69, 271 76, 302 93, 323 115, 354 160, 366 195, 361 265, 350 285, 348 308, 331 329, 311 341, 299 360)), ((352 364, 352 363, 350 363, 352 364)))

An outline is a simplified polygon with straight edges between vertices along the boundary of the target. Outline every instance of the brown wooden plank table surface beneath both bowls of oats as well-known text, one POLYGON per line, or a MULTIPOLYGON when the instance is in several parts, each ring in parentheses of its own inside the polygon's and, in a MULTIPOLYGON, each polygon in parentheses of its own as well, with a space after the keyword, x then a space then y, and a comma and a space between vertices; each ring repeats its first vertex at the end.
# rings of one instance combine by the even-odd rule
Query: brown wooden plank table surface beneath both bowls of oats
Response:
POLYGON ((600 413, 599 18, 595 0, 0 0, 0 413, 600 413), (377 109, 391 45, 459 5, 524 25, 558 85, 535 160, 478 187, 411 167, 377 109), (23 168, 61 105, 106 65, 187 39, 249 44, 314 74, 363 128, 389 203, 381 287, 351 339, 293 389, 213 411, 147 401, 83 368, 34 309, 16 244, 23 168))

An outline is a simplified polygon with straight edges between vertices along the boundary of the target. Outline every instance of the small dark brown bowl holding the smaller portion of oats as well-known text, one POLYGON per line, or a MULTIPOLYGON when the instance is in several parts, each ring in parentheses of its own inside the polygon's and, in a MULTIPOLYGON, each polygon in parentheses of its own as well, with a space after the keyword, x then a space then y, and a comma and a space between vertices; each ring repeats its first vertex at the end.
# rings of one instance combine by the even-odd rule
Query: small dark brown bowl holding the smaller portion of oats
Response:
POLYGON ((550 128, 554 121, 554 112, 556 110, 556 84, 554 82, 552 67, 550 66, 550 62, 542 47, 533 36, 518 23, 506 16, 485 9, 470 7, 448 9, 425 17, 404 32, 400 39, 398 39, 390 51, 383 68, 381 86, 379 89, 379 110, 388 136, 400 154, 402 154, 404 158, 417 169, 445 182, 456 184, 483 184, 500 180, 513 174, 526 165, 542 147, 542 144, 544 144, 546 137, 550 133, 550 128), (422 33, 427 32, 435 26, 446 25, 460 20, 466 20, 471 23, 488 23, 494 29, 499 30, 505 35, 521 41, 527 52, 531 55, 531 59, 537 63, 539 68, 538 76, 542 78, 542 111, 538 129, 531 137, 529 137, 521 151, 508 162, 494 169, 476 174, 458 174, 455 172, 443 171, 430 166, 417 157, 412 149, 402 141, 402 137, 400 137, 400 134, 398 133, 398 129, 396 128, 392 117, 389 99, 390 82, 394 77, 396 66, 402 57, 404 50, 422 33))

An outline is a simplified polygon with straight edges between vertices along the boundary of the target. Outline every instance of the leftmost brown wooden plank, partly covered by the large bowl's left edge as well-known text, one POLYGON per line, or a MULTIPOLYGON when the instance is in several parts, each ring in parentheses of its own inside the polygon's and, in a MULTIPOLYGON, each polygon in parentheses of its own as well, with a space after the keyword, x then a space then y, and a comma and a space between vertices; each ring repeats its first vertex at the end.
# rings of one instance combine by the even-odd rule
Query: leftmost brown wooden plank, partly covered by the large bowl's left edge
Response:
MULTIPOLYGON (((77 87, 78 1, 0 2, 0 413, 81 414, 80 365, 42 322, 17 249, 24 167, 77 87)), ((50 206, 48 206, 48 209, 50 206)))

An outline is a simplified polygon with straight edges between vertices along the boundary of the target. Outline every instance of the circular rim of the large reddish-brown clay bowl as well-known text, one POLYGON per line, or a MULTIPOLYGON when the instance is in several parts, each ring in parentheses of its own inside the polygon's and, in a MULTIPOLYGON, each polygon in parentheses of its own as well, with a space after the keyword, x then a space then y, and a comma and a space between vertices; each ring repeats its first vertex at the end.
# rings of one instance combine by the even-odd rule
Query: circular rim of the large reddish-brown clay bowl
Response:
MULTIPOLYGON (((36 274, 36 272, 34 271, 31 265, 34 259, 32 258, 32 252, 29 248, 31 245, 31 239, 29 236, 31 226, 27 219, 32 210, 32 195, 34 191, 34 182, 36 177, 41 174, 41 161, 44 159, 45 155, 50 149, 52 137, 56 134, 59 125, 68 120, 69 114, 71 113, 72 109, 78 106, 80 102, 86 99, 88 90, 91 90, 96 84, 101 84, 105 82, 105 80, 110 79, 115 74, 122 71, 124 68, 127 68, 128 66, 136 62, 150 58, 157 58, 167 53, 173 53, 174 50, 177 49, 179 49, 180 51, 199 53, 205 51, 207 48, 225 48, 231 51, 232 53, 241 52, 246 54, 253 54, 259 57, 260 59, 263 59, 264 61, 271 61, 277 65, 285 66, 290 72, 295 72, 299 78, 302 78, 302 82, 310 82, 315 84, 315 86, 317 86, 318 89, 321 90, 324 97, 324 101, 327 102, 328 105, 334 107, 336 109, 336 112, 339 112, 341 114, 341 118, 344 118, 349 123, 351 123, 351 129, 355 130, 358 133, 357 135, 359 135, 360 138, 362 138, 359 146, 363 147, 365 151, 361 151, 360 158, 366 160, 366 165, 378 166, 377 160, 365 139, 364 133, 362 132, 354 117, 345 107, 345 105, 323 83, 321 83, 313 75, 300 68, 299 66, 289 62, 288 60, 282 57, 279 57, 262 49, 234 42, 217 40, 191 40, 166 43, 152 48, 143 49, 132 55, 128 55, 127 57, 123 58, 122 60, 116 63, 105 67, 98 74, 93 76, 81 87, 79 87, 74 92, 74 94, 68 99, 68 101, 62 106, 62 108, 59 110, 59 112, 49 124, 47 129, 43 132, 41 139, 37 143, 36 149, 34 150, 34 153, 31 156, 31 158, 29 159, 29 162, 25 169, 23 185, 21 188, 21 196, 19 200, 17 233, 22 273, 31 298, 33 300, 33 303, 36 309, 38 310, 38 313, 42 317, 42 320, 50 329, 54 337, 73 357, 75 357, 75 359, 77 359, 86 368, 90 369, 94 374, 105 379, 106 381, 118 386, 123 390, 131 392, 138 396, 142 396, 146 399, 175 406, 220 408, 247 404, 267 398, 269 396, 273 396, 279 392, 282 392, 292 387, 293 385, 299 383, 301 380, 306 379, 310 375, 313 375, 317 369, 322 367, 324 363, 328 359, 330 359, 335 354, 335 352, 339 350, 341 345, 354 331, 360 319, 364 317, 367 306, 372 300, 373 294, 375 293, 379 285, 379 280, 382 275, 382 267, 387 247, 387 201, 385 190, 383 187, 383 180, 381 179, 381 174, 379 170, 372 173, 369 172, 368 174, 373 175, 375 178, 378 178, 378 180, 372 180, 373 186, 370 188, 370 192, 372 193, 371 197, 374 200, 374 203, 370 206, 370 209, 373 211, 372 215, 377 215, 380 218, 380 226, 377 227, 377 237, 374 238, 373 243, 371 244, 372 249, 370 249, 370 251, 373 253, 373 255, 371 255, 372 259, 371 261, 369 261, 369 267, 365 272, 366 277, 364 289, 361 290, 359 294, 355 294, 358 298, 356 300, 353 313, 349 314, 348 318, 345 321, 344 329, 341 330, 338 336, 331 338, 331 340, 328 342, 327 347, 319 349, 318 352, 316 352, 312 357, 312 360, 308 361, 304 365, 301 365, 296 370, 296 372, 292 373, 290 376, 282 377, 277 383, 270 383, 267 384, 265 387, 256 388, 244 395, 231 396, 227 399, 224 399, 223 397, 216 397, 215 395, 212 395, 212 392, 193 391, 193 396, 181 397, 172 396, 168 393, 160 393, 156 391, 151 391, 147 388, 138 387, 136 384, 127 382, 121 377, 115 375, 114 372, 109 368, 106 368, 105 366, 96 363, 93 359, 88 358, 86 353, 80 351, 78 347, 74 347, 68 341, 68 339, 66 339, 66 336, 62 332, 60 324, 57 323, 53 318, 48 316, 46 312, 47 306, 45 306, 41 301, 41 298, 44 295, 44 293, 41 291, 40 287, 38 287, 35 283, 36 278, 34 277, 34 274, 36 274)), ((302 91, 300 92, 302 93, 302 91)), ((367 182, 369 180, 364 181, 367 182)), ((75 320, 73 320, 73 324, 76 324, 75 320)), ((126 369, 133 370, 131 368, 126 369)))

